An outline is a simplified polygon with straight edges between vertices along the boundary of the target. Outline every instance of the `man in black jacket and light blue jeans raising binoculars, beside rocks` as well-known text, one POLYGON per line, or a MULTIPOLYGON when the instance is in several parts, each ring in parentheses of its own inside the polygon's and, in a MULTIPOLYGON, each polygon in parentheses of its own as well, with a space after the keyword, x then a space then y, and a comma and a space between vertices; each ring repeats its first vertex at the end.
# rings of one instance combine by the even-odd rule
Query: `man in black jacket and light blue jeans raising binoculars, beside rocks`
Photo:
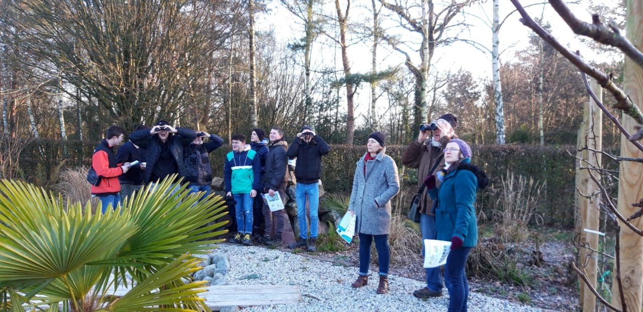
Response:
POLYGON ((297 220, 299 221, 299 239, 288 248, 306 247, 309 252, 317 250, 315 242, 319 230, 318 209, 320 205, 321 156, 331 152, 326 141, 315 134, 312 126, 303 126, 288 148, 288 157, 297 157, 294 177, 297 178, 295 197, 297 201, 297 220), (308 236, 308 219, 306 218, 306 197, 309 199, 311 217, 311 235, 308 236))

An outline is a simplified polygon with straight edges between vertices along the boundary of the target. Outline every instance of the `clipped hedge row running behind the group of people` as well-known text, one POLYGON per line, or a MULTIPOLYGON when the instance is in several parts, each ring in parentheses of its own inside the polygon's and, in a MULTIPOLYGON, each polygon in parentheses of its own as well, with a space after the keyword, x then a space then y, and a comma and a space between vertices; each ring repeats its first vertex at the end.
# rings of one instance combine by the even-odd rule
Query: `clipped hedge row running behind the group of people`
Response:
MULTIPOLYGON (((21 177, 40 186, 51 186, 57 182, 62 166, 89 165, 95 145, 78 141, 33 141, 21 154, 21 177)), ((395 159, 399 168, 404 148, 386 147, 386 153, 395 159)), ((541 193, 543 209, 539 214, 548 225, 573 226, 574 158, 570 153, 575 153, 574 146, 474 145, 471 148, 472 162, 487 172, 496 189, 508 171, 532 177, 536 182, 546 182, 545 191, 541 193)), ((222 146, 211 154, 215 177, 223 176, 223 159, 228 152, 230 146, 222 146)), ((349 195, 355 163, 365 152, 365 146, 333 145, 331 153, 322 158, 321 179, 325 191, 349 195)), ((403 187, 415 192, 417 170, 406 170, 403 187)), ((478 207, 483 211, 496 209, 494 196, 490 193, 484 191, 478 196, 478 207)))

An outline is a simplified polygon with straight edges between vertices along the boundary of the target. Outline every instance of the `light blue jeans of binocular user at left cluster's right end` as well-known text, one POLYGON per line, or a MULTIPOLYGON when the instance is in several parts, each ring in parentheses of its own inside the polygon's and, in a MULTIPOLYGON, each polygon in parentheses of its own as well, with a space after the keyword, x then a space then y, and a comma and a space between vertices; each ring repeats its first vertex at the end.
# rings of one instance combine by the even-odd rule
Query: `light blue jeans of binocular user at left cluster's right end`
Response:
POLYGON ((306 239, 308 236, 308 219, 306 218, 306 195, 308 195, 309 206, 311 208, 311 236, 317 238, 319 230, 320 207, 320 184, 319 182, 311 184, 298 183, 295 191, 297 200, 297 220, 299 221, 299 236, 306 239))

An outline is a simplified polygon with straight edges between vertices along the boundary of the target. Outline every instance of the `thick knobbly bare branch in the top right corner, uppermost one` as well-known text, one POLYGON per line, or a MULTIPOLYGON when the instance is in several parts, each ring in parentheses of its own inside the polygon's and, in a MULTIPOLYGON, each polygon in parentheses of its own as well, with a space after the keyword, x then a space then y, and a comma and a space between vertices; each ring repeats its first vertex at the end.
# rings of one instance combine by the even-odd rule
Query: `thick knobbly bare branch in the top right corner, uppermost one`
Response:
POLYGON ((575 17, 574 13, 572 13, 569 7, 562 0, 549 0, 549 4, 552 5, 552 8, 556 10, 556 13, 563 18, 563 21, 567 23, 574 33, 590 37, 602 44, 618 48, 634 62, 637 62, 639 66, 643 67, 643 53, 638 51, 638 49, 629 42, 626 37, 623 37, 616 26, 608 24, 608 28, 608 26, 605 26, 601 22, 601 17, 596 14, 592 15, 592 24, 581 21, 575 17))

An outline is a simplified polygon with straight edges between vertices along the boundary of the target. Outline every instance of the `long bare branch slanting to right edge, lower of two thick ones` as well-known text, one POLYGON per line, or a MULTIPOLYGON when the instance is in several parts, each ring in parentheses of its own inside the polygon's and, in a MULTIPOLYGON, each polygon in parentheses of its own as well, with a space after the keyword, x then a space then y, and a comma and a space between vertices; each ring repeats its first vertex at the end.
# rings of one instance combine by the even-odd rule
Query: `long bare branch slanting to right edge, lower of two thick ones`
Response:
POLYGON ((590 64, 587 64, 580 58, 580 56, 575 55, 574 53, 572 53, 572 51, 560 44, 560 42, 558 42, 552 35, 547 33, 547 31, 545 31, 538 23, 534 21, 534 19, 529 16, 529 14, 527 14, 525 8, 523 8, 519 0, 511 0, 511 3, 514 4, 518 12, 520 12, 520 15, 522 16, 520 22, 523 25, 531 28, 534 32, 536 32, 538 37, 541 37, 543 40, 545 40, 583 73, 586 73, 594 78, 601 85, 601 87, 609 91, 616 99, 616 104, 614 105, 615 108, 622 110, 625 114, 628 114, 628 116, 634 118, 637 123, 643 124, 643 114, 641 114, 640 109, 637 107, 637 105, 634 105, 634 103, 632 103, 631 99, 625 94, 625 92, 623 92, 621 89, 619 89, 619 87, 617 87, 617 85, 614 84, 608 74, 599 71, 599 69, 596 69, 590 64))

